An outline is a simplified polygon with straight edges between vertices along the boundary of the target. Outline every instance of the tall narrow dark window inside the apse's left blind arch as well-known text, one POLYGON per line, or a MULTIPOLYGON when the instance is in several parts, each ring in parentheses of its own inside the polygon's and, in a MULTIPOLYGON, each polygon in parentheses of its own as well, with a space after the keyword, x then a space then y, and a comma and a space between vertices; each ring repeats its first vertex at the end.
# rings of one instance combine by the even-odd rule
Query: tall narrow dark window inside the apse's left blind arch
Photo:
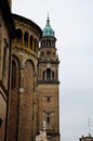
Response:
POLYGON ((12 88, 16 86, 16 63, 12 61, 12 88))

